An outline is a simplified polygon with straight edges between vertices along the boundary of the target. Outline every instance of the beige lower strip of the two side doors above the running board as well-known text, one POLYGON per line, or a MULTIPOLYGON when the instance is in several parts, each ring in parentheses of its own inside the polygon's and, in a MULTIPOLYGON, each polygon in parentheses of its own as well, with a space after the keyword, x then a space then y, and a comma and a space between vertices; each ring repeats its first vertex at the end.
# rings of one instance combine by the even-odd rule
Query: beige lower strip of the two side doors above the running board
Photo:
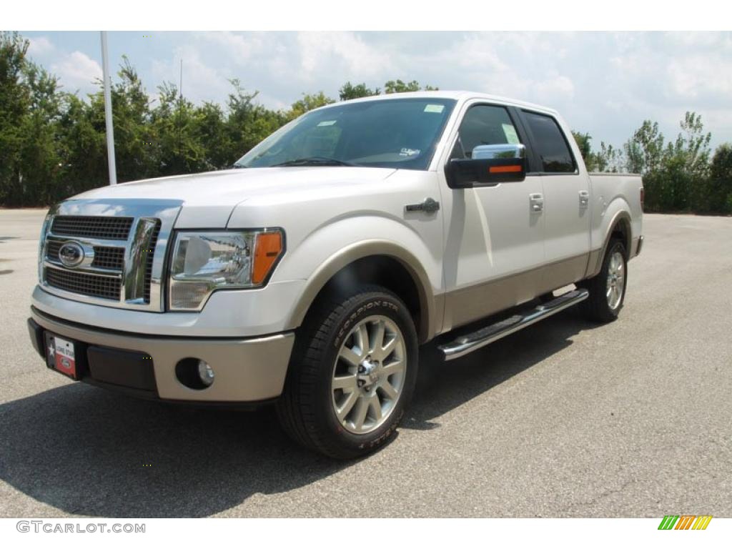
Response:
POLYGON ((498 280, 447 292, 443 332, 582 280, 587 261, 588 254, 577 255, 498 280))

